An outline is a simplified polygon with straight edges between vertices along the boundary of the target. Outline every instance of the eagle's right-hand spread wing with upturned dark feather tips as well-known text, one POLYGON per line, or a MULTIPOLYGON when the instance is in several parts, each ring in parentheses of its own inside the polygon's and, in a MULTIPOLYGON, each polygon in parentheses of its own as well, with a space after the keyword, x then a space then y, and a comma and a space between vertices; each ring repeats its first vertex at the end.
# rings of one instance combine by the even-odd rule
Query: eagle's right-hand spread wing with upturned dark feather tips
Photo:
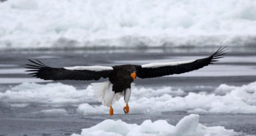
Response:
POLYGON ((207 58, 198 59, 198 60, 138 65, 136 67, 136 71, 137 71, 136 74, 139 78, 156 78, 159 76, 181 74, 184 72, 194 71, 206 65, 217 62, 218 58, 223 58, 221 56, 225 55, 225 53, 223 53, 224 51, 225 51, 225 47, 224 48, 220 47, 211 56, 207 58))

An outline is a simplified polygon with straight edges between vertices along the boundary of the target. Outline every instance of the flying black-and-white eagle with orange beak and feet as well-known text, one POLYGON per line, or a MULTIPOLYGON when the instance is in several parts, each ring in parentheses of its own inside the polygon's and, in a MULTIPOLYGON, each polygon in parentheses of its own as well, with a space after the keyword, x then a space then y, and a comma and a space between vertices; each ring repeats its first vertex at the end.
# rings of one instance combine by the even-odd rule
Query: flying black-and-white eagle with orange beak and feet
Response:
POLYGON ((226 47, 220 47, 215 53, 206 58, 197 60, 187 60, 180 62, 150 63, 144 65, 115 65, 106 66, 75 66, 55 68, 49 67, 40 60, 29 60, 32 64, 26 64, 25 67, 29 74, 36 78, 44 80, 99 80, 108 78, 104 83, 92 83, 95 88, 95 96, 99 98, 102 104, 109 107, 109 115, 114 111, 112 104, 124 95, 125 114, 129 113, 129 99, 131 96, 131 85, 136 78, 157 78, 172 74, 182 74, 184 72, 194 71, 209 64, 217 62, 218 58, 225 55, 226 47))

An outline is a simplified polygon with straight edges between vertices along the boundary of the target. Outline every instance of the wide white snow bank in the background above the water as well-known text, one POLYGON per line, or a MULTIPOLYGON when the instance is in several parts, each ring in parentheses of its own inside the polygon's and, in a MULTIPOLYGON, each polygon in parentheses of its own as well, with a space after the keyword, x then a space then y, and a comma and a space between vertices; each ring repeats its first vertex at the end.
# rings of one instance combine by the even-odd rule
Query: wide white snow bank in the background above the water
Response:
POLYGON ((253 45, 256 1, 16 0, 0 3, 0 48, 253 45))

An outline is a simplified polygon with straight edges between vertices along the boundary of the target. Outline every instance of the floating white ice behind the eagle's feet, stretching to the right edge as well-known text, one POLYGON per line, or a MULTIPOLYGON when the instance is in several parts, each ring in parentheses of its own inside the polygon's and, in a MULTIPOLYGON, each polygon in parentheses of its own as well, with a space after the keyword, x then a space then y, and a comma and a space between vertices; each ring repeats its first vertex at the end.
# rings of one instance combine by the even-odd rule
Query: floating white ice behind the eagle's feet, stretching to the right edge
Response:
MULTIPOLYGON (((188 93, 179 97, 180 91, 170 87, 152 90, 134 88, 129 102, 131 113, 191 112, 191 113, 256 113, 256 82, 248 85, 220 85, 214 93, 188 93), (220 93, 221 92, 221 93, 220 93), (173 97, 176 93, 177 97, 173 97)), ((183 92, 184 93, 184 92, 183 92)), ((124 100, 112 107, 115 114, 124 114, 124 100)), ((81 115, 108 114, 103 105, 81 104, 77 108, 81 115), (93 112, 95 111, 95 112, 93 112), (101 112, 100 112, 101 111, 101 112)))

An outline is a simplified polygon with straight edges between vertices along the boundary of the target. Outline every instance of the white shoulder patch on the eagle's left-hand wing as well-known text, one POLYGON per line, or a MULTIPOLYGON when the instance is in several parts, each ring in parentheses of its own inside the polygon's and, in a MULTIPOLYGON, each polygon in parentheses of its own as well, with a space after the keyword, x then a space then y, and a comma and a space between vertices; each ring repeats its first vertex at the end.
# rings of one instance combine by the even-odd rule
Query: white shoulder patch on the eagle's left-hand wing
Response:
POLYGON ((105 67, 100 65, 95 66, 76 66, 76 67, 64 67, 67 70, 88 70, 88 71, 110 71, 113 70, 113 67, 105 67))

